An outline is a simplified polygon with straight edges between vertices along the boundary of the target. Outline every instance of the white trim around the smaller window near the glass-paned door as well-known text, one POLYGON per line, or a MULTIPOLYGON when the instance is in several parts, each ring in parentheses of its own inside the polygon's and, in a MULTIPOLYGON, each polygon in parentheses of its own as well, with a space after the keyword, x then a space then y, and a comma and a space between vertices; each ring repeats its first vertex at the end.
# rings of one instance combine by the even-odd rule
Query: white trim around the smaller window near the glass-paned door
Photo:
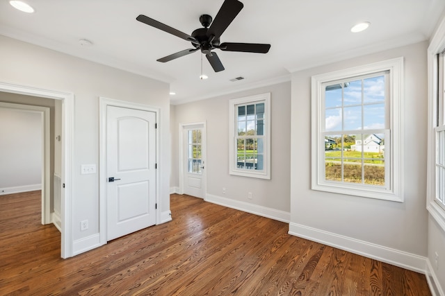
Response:
POLYGON ((257 94, 255 96, 246 96, 243 98, 233 98, 229 100, 229 174, 230 175, 238 175, 243 177, 256 177, 259 179, 267 179, 270 180, 270 93, 265 94, 257 94), (235 142, 235 134, 236 134, 236 105, 245 104, 245 103, 254 103, 257 101, 265 101, 264 103, 264 116, 266 119, 266 126, 264 128, 264 170, 245 170, 238 169, 235 166, 236 159, 236 142, 235 142))

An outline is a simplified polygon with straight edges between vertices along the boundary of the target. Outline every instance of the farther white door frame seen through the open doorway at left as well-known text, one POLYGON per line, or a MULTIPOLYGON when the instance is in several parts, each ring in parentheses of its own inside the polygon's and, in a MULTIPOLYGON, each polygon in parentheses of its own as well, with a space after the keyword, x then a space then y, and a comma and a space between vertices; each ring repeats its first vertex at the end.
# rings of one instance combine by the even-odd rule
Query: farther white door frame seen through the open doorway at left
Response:
POLYGON ((0 107, 20 110, 23 112, 39 113, 42 116, 42 224, 51 223, 51 168, 50 168, 50 141, 49 141, 49 107, 23 105, 0 102, 0 107))

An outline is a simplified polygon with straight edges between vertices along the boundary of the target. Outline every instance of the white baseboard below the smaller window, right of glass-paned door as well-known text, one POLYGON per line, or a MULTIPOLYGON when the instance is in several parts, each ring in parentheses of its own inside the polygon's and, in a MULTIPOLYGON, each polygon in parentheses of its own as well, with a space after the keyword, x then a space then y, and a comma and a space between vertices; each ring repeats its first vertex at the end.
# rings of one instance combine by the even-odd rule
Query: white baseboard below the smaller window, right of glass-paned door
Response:
POLYGON ((277 209, 270 209, 268 207, 259 206, 257 204, 250 204, 249 202, 241 202, 239 200, 231 200, 230 198, 222 198, 217 195, 207 194, 204 199, 206 202, 211 202, 213 204, 219 204, 224 207, 229 207, 232 209, 238 209, 240 211, 245 211, 250 214, 255 214, 258 216, 270 218, 273 220, 278 220, 284 223, 289 223, 291 220, 291 213, 287 211, 280 211, 277 209))

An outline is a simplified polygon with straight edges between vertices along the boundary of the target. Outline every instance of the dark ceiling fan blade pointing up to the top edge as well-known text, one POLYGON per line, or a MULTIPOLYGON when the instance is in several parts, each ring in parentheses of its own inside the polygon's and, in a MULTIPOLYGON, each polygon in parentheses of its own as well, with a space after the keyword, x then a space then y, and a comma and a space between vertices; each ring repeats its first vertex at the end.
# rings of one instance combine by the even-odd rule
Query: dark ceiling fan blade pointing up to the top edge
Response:
POLYGON ((209 31, 207 31, 207 37, 213 36, 214 40, 218 40, 236 15, 243 9, 243 6, 243 3, 238 0, 225 0, 215 19, 213 19, 209 31))

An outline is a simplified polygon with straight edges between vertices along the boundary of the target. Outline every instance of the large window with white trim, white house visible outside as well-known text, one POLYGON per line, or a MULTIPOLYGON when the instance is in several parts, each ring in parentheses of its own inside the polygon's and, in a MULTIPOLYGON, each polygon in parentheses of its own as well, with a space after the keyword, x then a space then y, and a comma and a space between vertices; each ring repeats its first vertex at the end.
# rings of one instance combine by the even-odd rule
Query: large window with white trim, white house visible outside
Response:
POLYGON ((312 189, 403 201, 403 58, 312 77, 312 189))

